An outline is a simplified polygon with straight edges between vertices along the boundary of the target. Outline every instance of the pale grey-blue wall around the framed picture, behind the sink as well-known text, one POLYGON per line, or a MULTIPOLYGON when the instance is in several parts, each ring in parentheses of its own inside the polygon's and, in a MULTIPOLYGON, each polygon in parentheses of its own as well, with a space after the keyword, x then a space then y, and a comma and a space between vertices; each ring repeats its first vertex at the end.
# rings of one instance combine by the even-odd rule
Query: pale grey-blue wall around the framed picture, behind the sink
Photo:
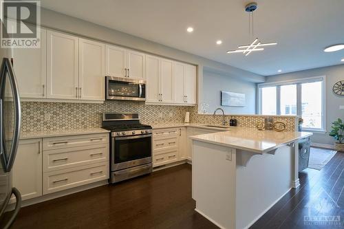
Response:
POLYGON ((202 102, 209 105, 208 113, 213 113, 217 107, 224 109, 226 114, 255 114, 256 111, 256 84, 246 80, 238 80, 224 74, 203 72, 202 102), (221 106, 220 91, 233 91, 246 95, 245 107, 221 106))

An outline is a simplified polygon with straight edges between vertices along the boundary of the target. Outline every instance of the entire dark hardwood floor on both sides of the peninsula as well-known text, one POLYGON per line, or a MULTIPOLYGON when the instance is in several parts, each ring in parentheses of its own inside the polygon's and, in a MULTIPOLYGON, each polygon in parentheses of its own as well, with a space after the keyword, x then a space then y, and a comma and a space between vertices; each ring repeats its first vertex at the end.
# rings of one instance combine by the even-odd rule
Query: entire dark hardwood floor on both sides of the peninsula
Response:
MULTIPOLYGON (((301 172, 301 186, 251 228, 344 228, 343 171, 344 153, 336 153, 321 171, 301 172), (308 215, 338 215, 341 224, 306 225, 308 215)), ((194 208, 191 166, 183 164, 22 208, 12 228, 217 228, 194 208)))

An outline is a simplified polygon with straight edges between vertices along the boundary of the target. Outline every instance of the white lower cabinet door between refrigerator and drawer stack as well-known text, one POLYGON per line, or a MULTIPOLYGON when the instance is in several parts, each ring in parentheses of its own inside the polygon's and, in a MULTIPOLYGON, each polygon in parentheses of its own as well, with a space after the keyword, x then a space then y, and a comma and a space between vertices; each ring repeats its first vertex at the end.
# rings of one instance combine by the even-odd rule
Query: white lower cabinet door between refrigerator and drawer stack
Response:
MULTIPOLYGON (((12 169, 12 186, 18 188, 21 198, 42 195, 42 141, 21 140, 12 169)), ((15 199, 14 197, 12 199, 15 199)))

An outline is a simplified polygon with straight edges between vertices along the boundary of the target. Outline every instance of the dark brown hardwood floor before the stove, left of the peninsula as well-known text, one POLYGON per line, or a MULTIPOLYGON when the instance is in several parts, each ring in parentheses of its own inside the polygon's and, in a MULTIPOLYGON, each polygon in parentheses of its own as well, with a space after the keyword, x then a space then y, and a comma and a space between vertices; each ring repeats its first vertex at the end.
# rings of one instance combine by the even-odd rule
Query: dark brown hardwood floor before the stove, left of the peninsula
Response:
POLYGON ((217 228, 194 209, 183 164, 22 208, 12 228, 217 228))

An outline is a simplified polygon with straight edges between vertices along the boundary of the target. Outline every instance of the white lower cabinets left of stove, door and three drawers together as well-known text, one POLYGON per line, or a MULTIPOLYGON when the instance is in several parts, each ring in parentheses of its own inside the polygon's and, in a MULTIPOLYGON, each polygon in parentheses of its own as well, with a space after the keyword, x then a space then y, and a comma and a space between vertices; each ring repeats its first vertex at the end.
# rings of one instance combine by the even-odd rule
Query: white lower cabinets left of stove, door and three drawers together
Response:
POLYGON ((109 133, 19 141, 12 185, 23 200, 105 179, 109 179, 109 133))

